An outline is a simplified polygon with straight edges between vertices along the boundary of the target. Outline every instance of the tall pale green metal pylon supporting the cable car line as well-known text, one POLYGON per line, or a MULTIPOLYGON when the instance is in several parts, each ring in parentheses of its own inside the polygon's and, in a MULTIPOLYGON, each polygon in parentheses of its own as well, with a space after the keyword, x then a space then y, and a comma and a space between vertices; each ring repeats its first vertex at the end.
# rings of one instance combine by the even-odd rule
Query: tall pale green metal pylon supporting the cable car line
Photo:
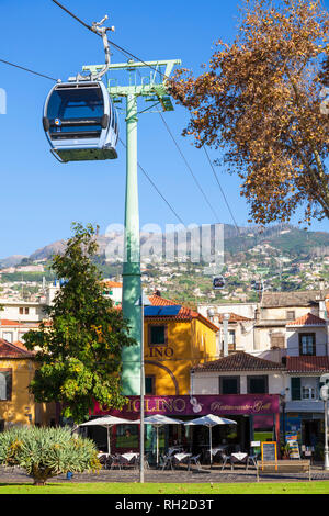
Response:
MULTIPOLYGON (((128 319, 129 335, 136 340, 136 346, 123 349, 122 352, 122 392, 124 395, 140 395, 140 364, 141 364, 141 274, 140 274, 140 246, 139 246, 139 209, 137 184, 137 99, 143 97, 151 102, 150 110, 160 104, 163 111, 173 111, 168 93, 166 80, 169 78, 174 65, 180 59, 158 61, 115 63, 109 66, 107 91, 114 102, 126 99, 126 200, 125 200, 125 256, 123 266, 123 315, 128 319), (140 70, 147 69, 148 77, 141 77, 140 70), (115 71, 128 71, 127 86, 116 86, 115 71), (138 79, 137 79, 138 75, 138 79), (159 77, 161 80, 159 81, 159 77), (113 86, 112 86, 113 85, 113 86)), ((97 74, 103 65, 84 66, 83 70, 97 74)), ((155 110, 158 112, 158 110, 155 110)))

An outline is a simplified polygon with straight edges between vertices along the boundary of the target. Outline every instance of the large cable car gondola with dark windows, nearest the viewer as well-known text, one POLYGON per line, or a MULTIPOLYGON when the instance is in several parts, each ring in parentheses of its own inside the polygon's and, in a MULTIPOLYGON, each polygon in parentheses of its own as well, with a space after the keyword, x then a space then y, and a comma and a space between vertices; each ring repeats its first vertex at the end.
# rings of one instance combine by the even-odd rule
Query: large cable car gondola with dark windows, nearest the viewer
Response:
POLYGON ((44 105, 43 125, 52 153, 63 162, 117 158, 117 113, 101 80, 56 83, 44 105))

